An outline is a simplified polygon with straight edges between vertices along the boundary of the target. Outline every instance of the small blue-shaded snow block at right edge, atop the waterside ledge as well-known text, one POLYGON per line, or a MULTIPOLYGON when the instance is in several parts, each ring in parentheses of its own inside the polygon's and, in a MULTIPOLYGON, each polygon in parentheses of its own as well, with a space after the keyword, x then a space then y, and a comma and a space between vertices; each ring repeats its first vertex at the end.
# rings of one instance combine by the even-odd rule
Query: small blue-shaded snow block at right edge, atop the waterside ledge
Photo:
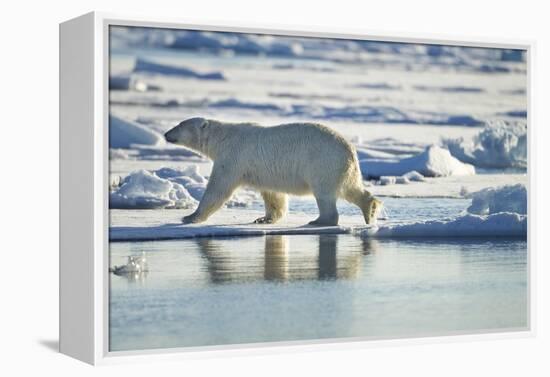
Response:
POLYGON ((489 187, 469 195, 472 205, 468 212, 487 215, 498 212, 527 214, 527 189, 523 184, 489 187))

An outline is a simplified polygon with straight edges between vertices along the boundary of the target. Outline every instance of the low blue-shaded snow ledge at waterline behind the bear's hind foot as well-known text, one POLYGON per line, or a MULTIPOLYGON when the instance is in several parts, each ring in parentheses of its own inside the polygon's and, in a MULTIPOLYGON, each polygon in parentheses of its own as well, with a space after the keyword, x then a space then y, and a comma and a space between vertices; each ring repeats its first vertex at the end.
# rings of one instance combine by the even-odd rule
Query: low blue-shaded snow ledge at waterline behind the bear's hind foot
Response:
POLYGON ((454 219, 386 225, 357 230, 362 237, 526 237, 527 216, 500 212, 487 216, 465 214, 454 219))

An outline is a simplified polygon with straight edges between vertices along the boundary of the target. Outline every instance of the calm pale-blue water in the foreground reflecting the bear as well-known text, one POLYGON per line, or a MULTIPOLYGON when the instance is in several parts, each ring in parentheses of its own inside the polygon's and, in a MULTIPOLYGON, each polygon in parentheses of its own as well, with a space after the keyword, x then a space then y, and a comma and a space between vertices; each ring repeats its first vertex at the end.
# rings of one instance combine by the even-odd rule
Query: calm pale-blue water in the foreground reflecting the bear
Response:
POLYGON ((523 240, 392 241, 351 235, 112 243, 110 349, 527 326, 523 240))

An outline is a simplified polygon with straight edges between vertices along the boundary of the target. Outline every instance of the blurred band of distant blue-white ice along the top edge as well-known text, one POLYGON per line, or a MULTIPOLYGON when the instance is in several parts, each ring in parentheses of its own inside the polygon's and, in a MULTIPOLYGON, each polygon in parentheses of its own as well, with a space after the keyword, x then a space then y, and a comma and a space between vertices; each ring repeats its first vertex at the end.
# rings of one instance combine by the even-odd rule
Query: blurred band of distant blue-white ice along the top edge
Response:
POLYGON ((303 57, 342 64, 362 62, 409 70, 444 67, 489 74, 521 71, 525 63, 521 50, 351 40, 327 43, 318 38, 126 27, 111 29, 111 45, 115 49, 150 46, 224 56, 303 57))

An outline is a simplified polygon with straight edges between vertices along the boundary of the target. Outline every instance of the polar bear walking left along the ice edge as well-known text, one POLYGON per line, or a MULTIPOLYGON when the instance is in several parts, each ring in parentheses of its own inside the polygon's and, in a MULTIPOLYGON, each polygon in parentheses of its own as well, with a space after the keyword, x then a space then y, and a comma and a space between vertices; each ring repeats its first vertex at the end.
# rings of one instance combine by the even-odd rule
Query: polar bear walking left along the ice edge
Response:
POLYGON ((338 198, 361 208, 367 224, 381 209, 381 202, 363 188, 354 147, 320 124, 262 127, 191 118, 164 137, 214 161, 199 206, 184 223, 205 221, 239 186, 262 194, 266 213, 255 223, 280 220, 288 209, 287 194, 315 196, 319 217, 311 225, 337 225, 338 198))

